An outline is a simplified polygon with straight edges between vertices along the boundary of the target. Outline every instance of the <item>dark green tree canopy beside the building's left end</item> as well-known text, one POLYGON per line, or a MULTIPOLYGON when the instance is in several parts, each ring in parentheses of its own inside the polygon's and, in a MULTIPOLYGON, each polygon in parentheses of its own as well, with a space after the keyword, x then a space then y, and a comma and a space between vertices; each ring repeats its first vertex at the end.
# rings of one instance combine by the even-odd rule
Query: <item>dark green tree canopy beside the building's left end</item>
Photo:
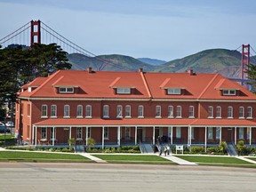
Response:
POLYGON ((9 99, 15 101, 16 92, 23 84, 37 76, 70 69, 72 65, 67 55, 68 52, 57 44, 34 44, 32 49, 21 45, 0 49, 0 98, 9 95, 9 99))

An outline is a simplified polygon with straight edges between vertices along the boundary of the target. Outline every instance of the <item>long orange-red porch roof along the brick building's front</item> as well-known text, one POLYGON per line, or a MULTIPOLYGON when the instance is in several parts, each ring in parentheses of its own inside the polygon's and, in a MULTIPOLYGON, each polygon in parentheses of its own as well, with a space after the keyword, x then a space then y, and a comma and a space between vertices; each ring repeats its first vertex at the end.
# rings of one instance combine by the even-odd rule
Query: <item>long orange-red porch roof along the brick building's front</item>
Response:
POLYGON ((87 119, 61 118, 46 119, 36 126, 255 126, 256 122, 246 119, 175 119, 175 118, 122 118, 87 119))

